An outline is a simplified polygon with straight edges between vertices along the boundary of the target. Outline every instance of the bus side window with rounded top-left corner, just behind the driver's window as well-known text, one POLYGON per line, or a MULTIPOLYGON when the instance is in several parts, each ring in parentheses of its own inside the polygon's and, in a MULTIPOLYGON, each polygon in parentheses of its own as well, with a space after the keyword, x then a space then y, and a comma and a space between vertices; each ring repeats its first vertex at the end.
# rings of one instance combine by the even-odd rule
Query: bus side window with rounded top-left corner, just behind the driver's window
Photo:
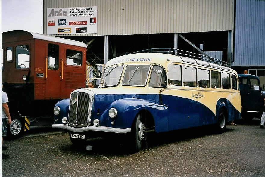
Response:
POLYGON ((168 69, 168 84, 169 85, 182 85, 181 80, 181 66, 173 64, 168 69))

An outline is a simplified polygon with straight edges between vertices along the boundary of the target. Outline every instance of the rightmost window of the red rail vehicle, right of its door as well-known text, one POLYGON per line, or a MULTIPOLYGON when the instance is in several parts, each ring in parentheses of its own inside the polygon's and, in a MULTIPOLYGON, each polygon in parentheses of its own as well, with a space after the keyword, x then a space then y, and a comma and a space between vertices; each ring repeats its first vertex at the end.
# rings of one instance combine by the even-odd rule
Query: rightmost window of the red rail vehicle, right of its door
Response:
POLYGON ((71 66, 82 66, 82 52, 67 49, 66 64, 71 66))

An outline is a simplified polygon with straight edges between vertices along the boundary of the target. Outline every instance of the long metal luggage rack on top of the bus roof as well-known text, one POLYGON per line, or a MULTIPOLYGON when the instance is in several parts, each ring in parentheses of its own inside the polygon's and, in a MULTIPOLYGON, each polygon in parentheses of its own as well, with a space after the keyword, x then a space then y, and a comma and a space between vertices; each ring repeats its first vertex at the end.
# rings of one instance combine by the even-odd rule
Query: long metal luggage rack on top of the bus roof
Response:
POLYGON ((127 54, 136 54, 136 53, 164 53, 164 54, 172 54, 172 55, 178 55, 183 57, 189 57, 197 60, 207 61, 209 63, 219 64, 222 66, 231 67, 230 64, 226 61, 222 61, 213 57, 209 57, 203 54, 196 54, 190 51, 180 50, 177 48, 150 48, 146 50, 136 51, 136 52, 126 52, 127 54))

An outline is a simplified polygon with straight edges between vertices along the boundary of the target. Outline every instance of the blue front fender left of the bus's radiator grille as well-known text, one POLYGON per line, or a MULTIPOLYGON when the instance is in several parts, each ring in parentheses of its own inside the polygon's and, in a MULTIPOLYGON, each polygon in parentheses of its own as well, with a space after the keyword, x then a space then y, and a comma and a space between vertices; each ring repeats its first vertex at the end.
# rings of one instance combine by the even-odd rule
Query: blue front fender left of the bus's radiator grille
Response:
POLYGON ((56 119, 58 120, 57 122, 55 122, 56 124, 62 124, 62 118, 63 117, 68 117, 69 105, 70 105, 70 98, 58 101, 55 104, 55 106, 58 106, 60 108, 59 115, 58 116, 53 115, 54 120, 56 120, 56 119))

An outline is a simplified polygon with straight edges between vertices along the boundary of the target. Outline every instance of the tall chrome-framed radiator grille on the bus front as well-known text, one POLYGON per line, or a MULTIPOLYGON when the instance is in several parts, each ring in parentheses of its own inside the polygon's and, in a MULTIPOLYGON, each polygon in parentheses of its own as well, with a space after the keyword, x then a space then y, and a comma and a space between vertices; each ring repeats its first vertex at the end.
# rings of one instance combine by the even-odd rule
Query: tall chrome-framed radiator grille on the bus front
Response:
POLYGON ((72 126, 89 125, 94 96, 91 96, 87 92, 80 92, 78 90, 71 94, 68 123, 72 126))

